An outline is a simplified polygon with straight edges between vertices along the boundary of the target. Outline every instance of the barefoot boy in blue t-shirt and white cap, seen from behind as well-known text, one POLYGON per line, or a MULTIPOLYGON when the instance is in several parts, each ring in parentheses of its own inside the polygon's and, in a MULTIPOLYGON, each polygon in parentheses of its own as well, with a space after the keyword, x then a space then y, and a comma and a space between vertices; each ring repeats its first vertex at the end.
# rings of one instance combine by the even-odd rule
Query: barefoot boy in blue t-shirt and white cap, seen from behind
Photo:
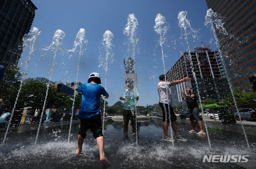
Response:
POLYGON ((76 154, 82 152, 82 144, 86 137, 86 131, 91 129, 91 132, 96 138, 100 153, 100 162, 104 165, 111 165, 104 153, 104 138, 102 134, 101 115, 100 115, 100 97, 108 98, 109 94, 105 88, 100 86, 101 80, 98 73, 91 73, 88 83, 83 83, 76 87, 76 91, 82 92, 80 116, 80 129, 78 132, 78 149, 76 154))

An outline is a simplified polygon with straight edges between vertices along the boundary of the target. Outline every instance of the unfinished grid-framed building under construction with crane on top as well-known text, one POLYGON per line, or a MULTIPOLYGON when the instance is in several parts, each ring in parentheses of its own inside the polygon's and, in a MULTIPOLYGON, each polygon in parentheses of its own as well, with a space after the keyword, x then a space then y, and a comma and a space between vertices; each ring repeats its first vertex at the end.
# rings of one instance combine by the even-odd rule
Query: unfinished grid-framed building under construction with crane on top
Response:
POLYGON ((192 87, 193 92, 197 93, 193 72, 197 78, 201 99, 221 100, 229 96, 230 89, 218 51, 212 51, 209 48, 195 48, 193 52, 186 51, 183 53, 181 58, 166 73, 167 81, 180 80, 185 77, 192 78, 189 82, 171 87, 175 105, 180 105, 178 103, 182 101, 180 92, 185 91, 186 86, 192 87), (175 97, 175 95, 177 96, 175 97), (177 99, 175 100, 175 98, 177 99))

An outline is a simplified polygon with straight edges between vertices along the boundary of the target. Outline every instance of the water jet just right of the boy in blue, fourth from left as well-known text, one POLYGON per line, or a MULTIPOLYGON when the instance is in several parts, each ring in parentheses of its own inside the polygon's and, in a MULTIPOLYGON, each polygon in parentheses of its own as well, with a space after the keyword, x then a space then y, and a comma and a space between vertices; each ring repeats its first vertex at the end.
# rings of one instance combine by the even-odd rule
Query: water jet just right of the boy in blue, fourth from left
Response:
MULTIPOLYGON (((106 58, 103 58, 102 55, 100 55, 100 66, 103 66, 106 74, 105 74, 105 89, 107 88, 107 71, 110 69, 108 68, 108 60, 110 61, 110 63, 113 62, 112 57, 113 54, 111 54, 112 51, 112 44, 111 44, 111 40, 114 38, 113 33, 111 31, 105 31, 105 33, 103 34, 103 40, 102 40, 102 45, 106 50, 106 58)), ((104 135, 104 122, 105 122, 105 109, 106 109, 106 98, 104 98, 104 108, 103 108, 103 125, 102 125, 102 133, 104 135)))

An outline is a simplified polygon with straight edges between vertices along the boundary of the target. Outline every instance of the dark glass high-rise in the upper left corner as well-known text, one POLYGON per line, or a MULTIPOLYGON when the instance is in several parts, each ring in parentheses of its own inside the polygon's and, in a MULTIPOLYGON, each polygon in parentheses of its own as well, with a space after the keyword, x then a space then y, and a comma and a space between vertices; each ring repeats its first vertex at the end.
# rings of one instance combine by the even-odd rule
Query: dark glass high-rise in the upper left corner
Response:
POLYGON ((0 65, 18 64, 36 9, 31 0, 0 0, 0 65))

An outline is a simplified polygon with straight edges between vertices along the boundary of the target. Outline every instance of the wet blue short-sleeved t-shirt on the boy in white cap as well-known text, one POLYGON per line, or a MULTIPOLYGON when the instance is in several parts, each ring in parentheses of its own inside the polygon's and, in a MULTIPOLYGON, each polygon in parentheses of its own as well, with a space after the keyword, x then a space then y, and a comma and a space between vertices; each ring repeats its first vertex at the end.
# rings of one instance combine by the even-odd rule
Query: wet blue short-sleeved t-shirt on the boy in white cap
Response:
POLYGON ((81 109, 79 116, 82 119, 100 115, 100 96, 106 96, 105 88, 99 84, 83 83, 78 86, 78 92, 82 92, 81 109))

